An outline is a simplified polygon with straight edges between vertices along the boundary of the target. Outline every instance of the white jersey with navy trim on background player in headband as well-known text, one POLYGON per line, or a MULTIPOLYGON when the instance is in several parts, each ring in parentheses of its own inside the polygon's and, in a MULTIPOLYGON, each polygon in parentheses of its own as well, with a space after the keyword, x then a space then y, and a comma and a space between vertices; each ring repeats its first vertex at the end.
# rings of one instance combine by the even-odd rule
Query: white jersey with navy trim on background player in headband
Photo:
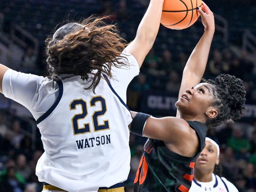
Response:
POLYGON ((199 182, 193 179, 189 192, 238 192, 237 188, 226 178, 212 173, 212 181, 199 182))

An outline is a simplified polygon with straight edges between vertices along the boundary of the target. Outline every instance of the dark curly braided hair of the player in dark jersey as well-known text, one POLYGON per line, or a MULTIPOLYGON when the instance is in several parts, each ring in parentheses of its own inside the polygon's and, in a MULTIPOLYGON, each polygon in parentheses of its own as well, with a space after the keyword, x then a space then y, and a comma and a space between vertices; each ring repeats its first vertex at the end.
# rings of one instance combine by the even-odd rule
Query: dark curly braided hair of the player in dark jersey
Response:
POLYGON ((241 118, 245 110, 245 89, 243 81, 235 76, 222 74, 215 80, 202 79, 203 83, 213 85, 214 101, 212 106, 218 106, 218 115, 208 119, 206 125, 216 127, 223 122, 234 123, 234 119, 241 118))

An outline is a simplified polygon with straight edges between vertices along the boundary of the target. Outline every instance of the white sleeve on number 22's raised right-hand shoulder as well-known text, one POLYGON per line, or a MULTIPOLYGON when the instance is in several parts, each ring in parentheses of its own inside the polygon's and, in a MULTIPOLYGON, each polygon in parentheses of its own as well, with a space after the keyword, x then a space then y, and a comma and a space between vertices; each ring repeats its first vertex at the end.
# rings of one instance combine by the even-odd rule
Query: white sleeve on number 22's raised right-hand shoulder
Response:
POLYGON ((128 66, 123 66, 121 68, 112 67, 112 74, 115 76, 114 78, 121 85, 123 90, 126 92, 126 89, 132 79, 139 75, 140 68, 137 60, 131 54, 122 54, 125 58, 121 58, 123 62, 128 63, 128 66))

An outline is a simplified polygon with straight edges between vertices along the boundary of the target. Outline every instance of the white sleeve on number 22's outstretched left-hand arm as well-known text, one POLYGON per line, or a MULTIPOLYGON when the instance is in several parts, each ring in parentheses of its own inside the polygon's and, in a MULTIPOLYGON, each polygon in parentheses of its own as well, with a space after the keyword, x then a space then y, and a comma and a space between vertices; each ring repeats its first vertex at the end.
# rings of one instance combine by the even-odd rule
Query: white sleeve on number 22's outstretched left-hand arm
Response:
POLYGON ((35 108, 37 93, 43 79, 43 76, 8 69, 2 83, 4 96, 25 106, 33 114, 32 108, 35 108))

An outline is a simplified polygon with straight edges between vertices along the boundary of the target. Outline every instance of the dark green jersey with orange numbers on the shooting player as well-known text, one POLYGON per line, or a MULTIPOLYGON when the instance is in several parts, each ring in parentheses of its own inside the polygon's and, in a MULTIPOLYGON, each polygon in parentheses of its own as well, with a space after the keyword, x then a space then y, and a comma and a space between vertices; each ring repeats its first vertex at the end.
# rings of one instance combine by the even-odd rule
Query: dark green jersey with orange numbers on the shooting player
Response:
POLYGON ((134 180, 134 192, 188 192, 192 184, 196 158, 205 146, 207 127, 188 121, 199 140, 195 156, 185 157, 168 149, 161 140, 148 139, 134 180))

